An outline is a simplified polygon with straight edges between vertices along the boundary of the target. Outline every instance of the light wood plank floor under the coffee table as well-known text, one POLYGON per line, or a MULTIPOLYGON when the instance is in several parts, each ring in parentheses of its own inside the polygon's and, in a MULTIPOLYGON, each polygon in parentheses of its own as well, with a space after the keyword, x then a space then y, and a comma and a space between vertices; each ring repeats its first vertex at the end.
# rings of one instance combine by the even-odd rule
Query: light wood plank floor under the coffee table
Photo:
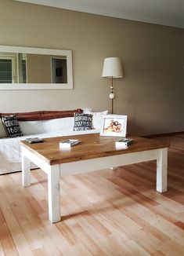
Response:
POLYGON ((184 255, 184 135, 159 140, 171 142, 168 192, 155 191, 155 162, 65 177, 54 225, 41 170, 29 188, 0 176, 0 255, 184 255))

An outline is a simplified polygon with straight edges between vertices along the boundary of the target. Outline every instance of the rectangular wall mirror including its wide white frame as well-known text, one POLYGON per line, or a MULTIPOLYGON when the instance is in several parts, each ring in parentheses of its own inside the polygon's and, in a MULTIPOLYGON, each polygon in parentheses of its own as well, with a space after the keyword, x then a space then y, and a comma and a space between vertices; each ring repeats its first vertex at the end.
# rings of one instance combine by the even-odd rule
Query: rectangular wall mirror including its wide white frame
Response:
POLYGON ((0 46, 0 90, 73 89, 71 50, 0 46))

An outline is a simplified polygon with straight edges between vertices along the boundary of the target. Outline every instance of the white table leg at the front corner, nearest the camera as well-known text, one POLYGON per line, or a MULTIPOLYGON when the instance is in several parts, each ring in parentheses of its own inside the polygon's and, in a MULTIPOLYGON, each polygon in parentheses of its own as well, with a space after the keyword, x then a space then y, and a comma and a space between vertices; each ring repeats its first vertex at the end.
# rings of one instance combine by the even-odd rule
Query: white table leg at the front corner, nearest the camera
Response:
POLYGON ((52 223, 60 221, 60 165, 49 166, 48 201, 49 220, 52 223))

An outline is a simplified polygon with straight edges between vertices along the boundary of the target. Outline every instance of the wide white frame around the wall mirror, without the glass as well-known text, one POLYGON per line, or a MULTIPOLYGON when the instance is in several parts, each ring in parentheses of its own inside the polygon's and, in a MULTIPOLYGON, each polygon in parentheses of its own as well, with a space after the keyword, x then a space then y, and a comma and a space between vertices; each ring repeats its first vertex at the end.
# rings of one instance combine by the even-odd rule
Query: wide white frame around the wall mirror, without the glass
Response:
POLYGON ((67 49, 45 49, 20 46, 0 46, 0 53, 35 53, 67 56, 67 83, 1 83, 0 90, 59 90, 73 89, 72 51, 67 49))

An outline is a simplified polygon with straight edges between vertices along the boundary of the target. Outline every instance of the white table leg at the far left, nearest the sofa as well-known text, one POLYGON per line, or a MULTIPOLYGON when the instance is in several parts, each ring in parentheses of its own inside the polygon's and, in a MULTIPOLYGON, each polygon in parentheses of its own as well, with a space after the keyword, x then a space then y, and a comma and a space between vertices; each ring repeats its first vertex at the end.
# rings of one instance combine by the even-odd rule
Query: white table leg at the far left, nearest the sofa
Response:
POLYGON ((28 187, 31 185, 31 170, 30 170, 30 159, 27 159, 25 155, 23 155, 22 151, 22 185, 23 187, 28 187))

